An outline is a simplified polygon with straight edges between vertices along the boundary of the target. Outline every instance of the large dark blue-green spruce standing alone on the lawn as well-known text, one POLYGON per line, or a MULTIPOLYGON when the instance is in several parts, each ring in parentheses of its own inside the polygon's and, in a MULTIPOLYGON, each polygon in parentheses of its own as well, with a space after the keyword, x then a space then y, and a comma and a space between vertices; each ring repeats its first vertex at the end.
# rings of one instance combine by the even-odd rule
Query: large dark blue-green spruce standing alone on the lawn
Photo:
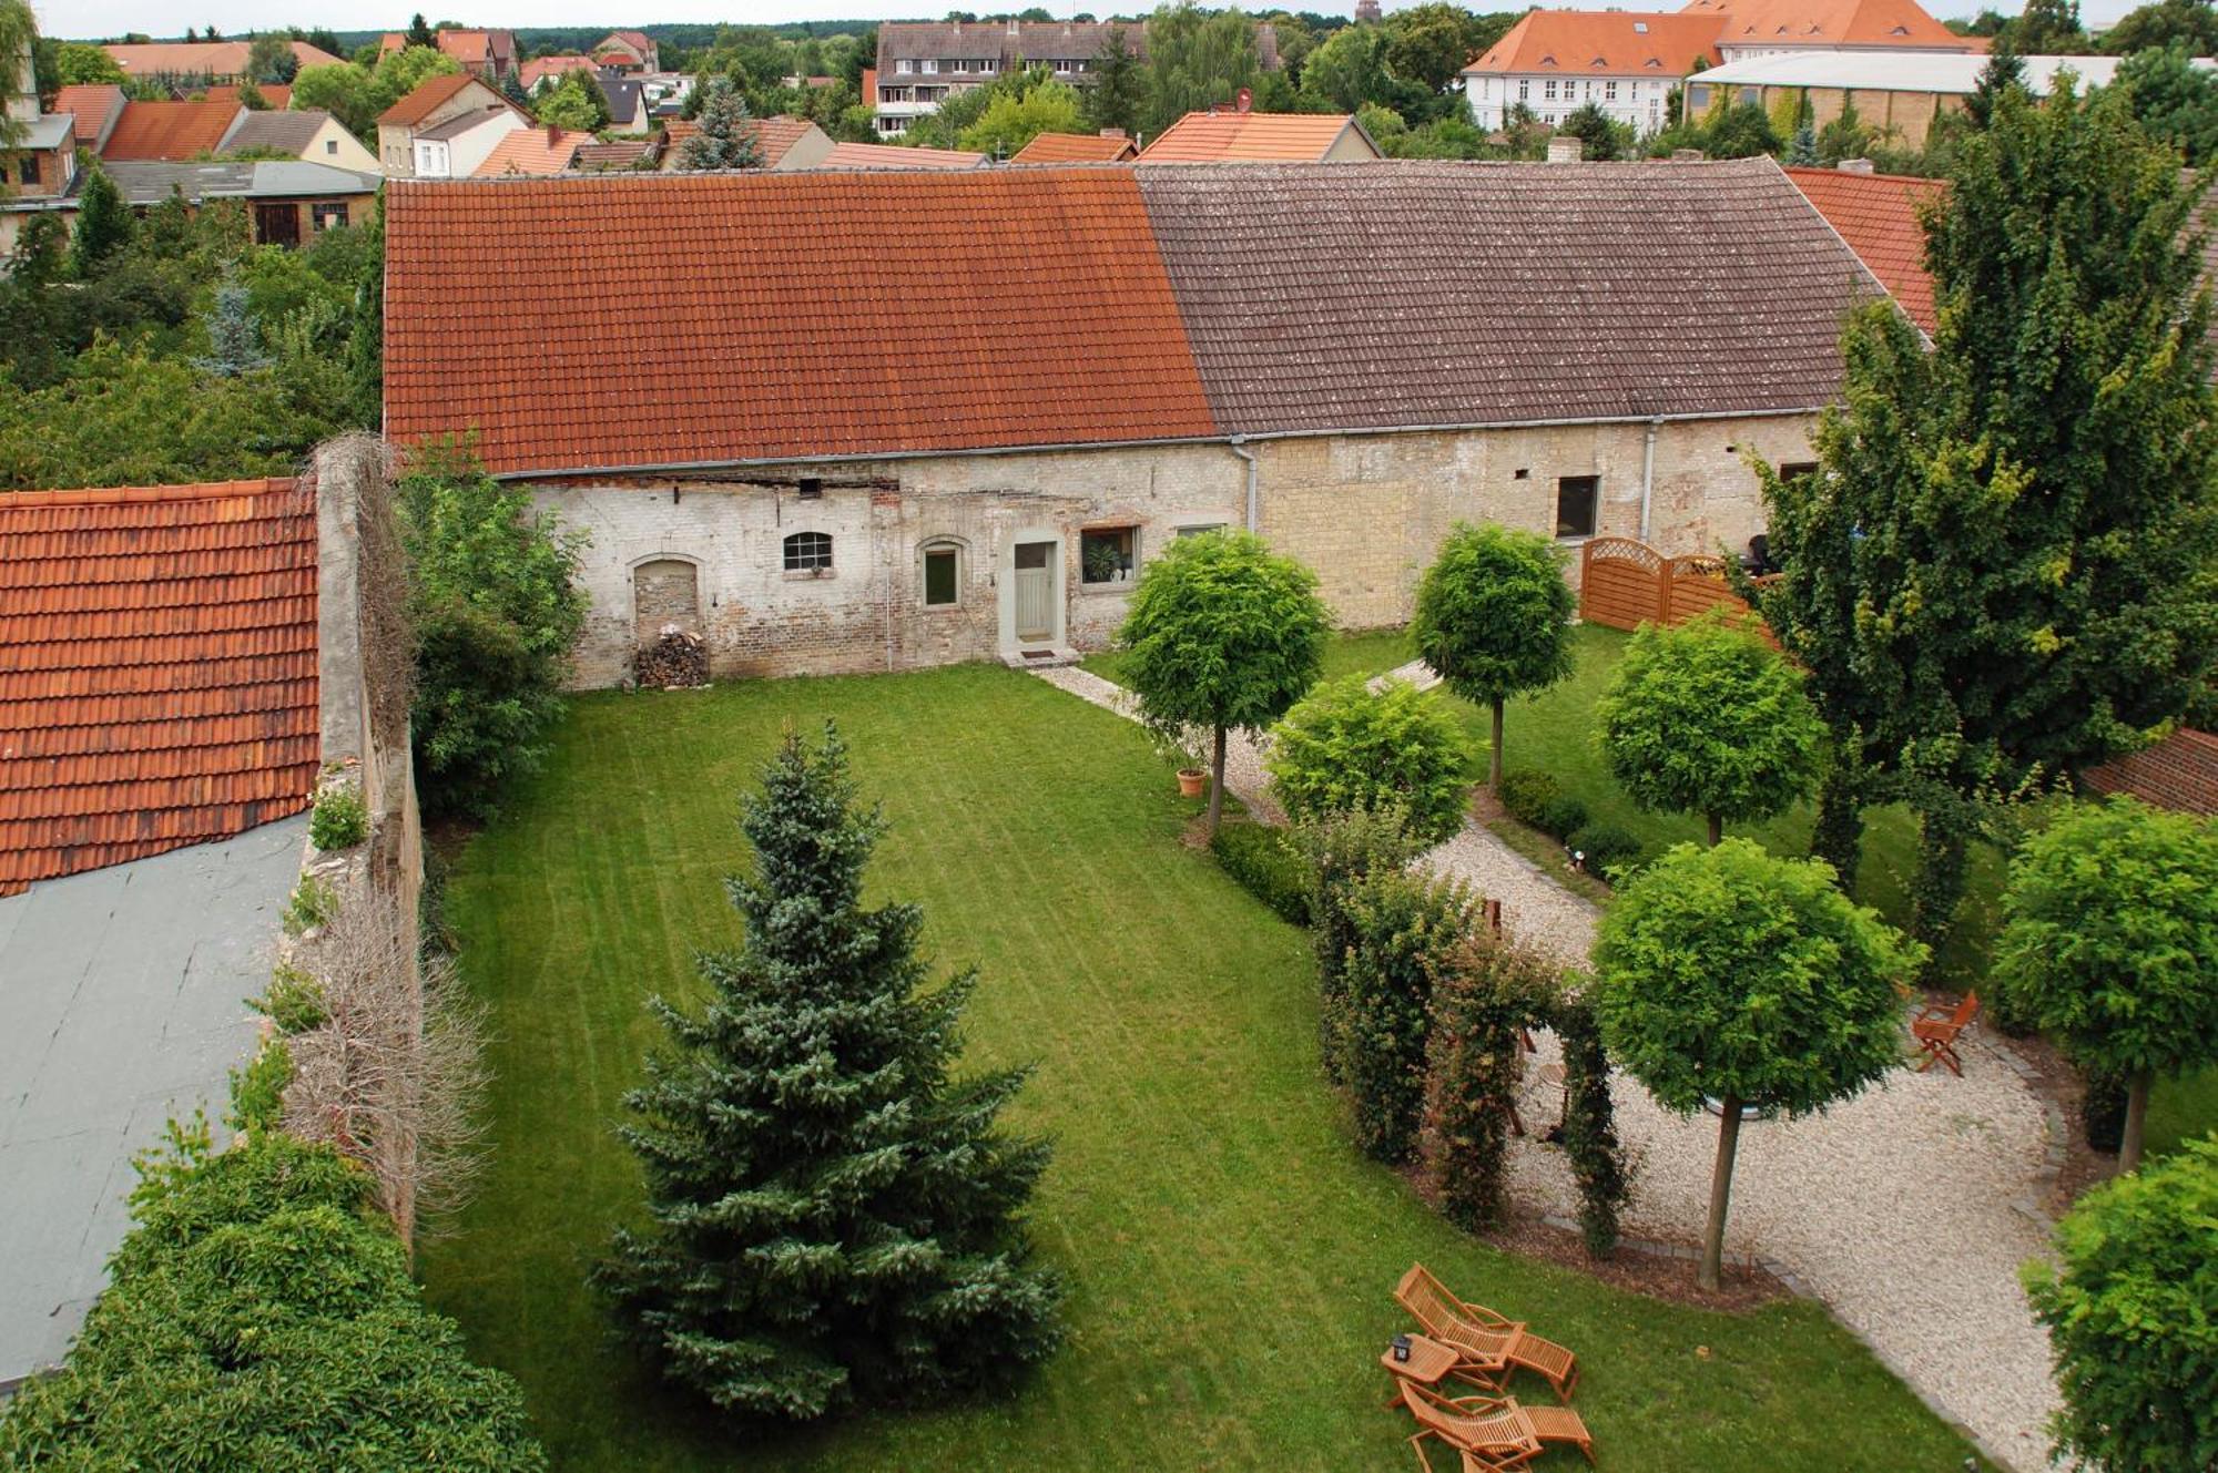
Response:
POLYGON ((1007 1382, 1056 1347, 1058 1280, 1018 1213, 1045 1140, 996 1125, 1027 1069, 949 1071, 976 974, 925 992, 923 914, 865 910, 885 830, 832 725, 787 732, 741 805, 736 952, 625 1096, 648 1225, 597 1269, 632 1340, 719 1409, 812 1420, 1007 1382))

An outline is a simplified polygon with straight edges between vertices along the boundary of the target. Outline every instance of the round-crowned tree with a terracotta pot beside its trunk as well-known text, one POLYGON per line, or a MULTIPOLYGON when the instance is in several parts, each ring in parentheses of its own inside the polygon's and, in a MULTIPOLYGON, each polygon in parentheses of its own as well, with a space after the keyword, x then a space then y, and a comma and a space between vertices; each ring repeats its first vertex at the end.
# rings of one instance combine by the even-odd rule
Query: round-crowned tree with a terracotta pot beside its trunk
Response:
POLYGON ((1317 575, 1249 532, 1178 537, 1140 572, 1118 646, 1140 719, 1211 734, 1209 836, 1224 814, 1224 732, 1260 732, 1317 683, 1331 617, 1317 575))

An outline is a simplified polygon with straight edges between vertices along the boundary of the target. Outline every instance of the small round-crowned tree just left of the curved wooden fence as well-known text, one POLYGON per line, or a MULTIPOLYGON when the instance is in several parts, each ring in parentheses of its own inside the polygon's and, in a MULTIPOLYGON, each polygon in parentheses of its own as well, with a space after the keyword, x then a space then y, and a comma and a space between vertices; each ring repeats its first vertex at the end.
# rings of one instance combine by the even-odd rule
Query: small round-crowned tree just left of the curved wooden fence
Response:
POLYGON ((1515 694, 1546 690, 1573 668, 1564 550, 1539 532, 1459 521, 1417 583, 1411 634, 1455 694, 1486 705, 1493 754, 1486 785, 1502 792, 1502 708, 1515 694))

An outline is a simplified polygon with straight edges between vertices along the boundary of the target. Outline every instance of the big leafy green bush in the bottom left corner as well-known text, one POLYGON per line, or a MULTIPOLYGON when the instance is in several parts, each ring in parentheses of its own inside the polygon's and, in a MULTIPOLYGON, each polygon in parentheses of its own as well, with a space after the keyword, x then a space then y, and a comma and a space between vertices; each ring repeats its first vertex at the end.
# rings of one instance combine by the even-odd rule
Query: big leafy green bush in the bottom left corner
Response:
POLYGON ((215 1154, 173 1125, 69 1360, 0 1420, 0 1466, 543 1469, 517 1384, 470 1364, 362 1205, 328 1147, 215 1154))

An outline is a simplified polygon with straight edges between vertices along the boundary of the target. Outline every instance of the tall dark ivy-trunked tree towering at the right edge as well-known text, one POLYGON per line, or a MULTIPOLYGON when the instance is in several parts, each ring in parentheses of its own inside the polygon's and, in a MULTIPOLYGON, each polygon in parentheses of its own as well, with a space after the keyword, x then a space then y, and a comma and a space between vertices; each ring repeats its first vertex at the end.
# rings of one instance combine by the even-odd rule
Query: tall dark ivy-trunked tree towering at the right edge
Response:
POLYGON ((1934 949, 1976 803, 2145 745, 2218 657, 2200 200, 2123 91, 2003 89, 1927 220, 1932 348, 1856 313, 1821 470, 1763 468, 1763 617, 1837 739, 1821 827, 1852 850, 1843 810, 1919 807, 1934 949))

